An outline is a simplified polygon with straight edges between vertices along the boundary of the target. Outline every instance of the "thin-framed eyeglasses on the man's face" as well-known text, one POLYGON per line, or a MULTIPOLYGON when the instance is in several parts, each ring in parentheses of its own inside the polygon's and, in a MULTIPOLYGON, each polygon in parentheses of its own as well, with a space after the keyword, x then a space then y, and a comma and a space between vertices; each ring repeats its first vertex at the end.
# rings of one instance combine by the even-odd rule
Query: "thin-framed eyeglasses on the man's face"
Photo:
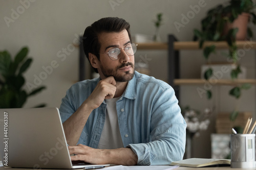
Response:
POLYGON ((127 44, 123 48, 111 48, 108 53, 101 54, 108 54, 111 60, 117 60, 122 49, 128 56, 133 56, 137 51, 137 45, 135 43, 127 44))

